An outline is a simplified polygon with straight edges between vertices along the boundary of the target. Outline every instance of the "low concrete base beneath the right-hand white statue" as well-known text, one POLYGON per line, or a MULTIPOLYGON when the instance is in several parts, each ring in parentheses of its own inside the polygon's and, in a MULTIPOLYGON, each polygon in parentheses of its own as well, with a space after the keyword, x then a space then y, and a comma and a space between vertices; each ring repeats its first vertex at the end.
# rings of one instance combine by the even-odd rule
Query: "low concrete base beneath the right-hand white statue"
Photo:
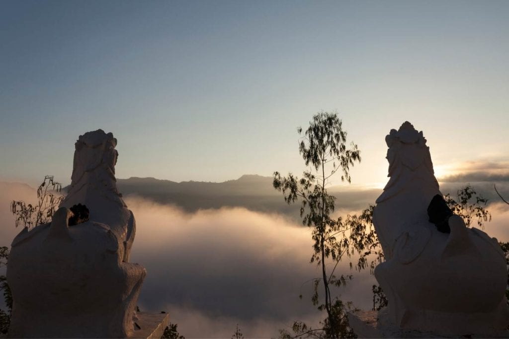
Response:
MULTIPOLYGON (((350 327, 359 338, 480 338, 485 336, 458 335, 441 336, 432 332, 404 330, 395 326, 381 326, 377 311, 357 311, 348 313, 350 327)), ((507 338, 507 335, 497 336, 507 338)))

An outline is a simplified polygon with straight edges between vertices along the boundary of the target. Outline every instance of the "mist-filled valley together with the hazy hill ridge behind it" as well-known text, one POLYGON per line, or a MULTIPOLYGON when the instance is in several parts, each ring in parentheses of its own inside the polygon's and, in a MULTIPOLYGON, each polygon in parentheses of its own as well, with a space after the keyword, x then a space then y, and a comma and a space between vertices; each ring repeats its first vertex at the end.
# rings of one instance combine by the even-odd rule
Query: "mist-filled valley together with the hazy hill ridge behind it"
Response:
MULTIPOLYGON (((186 337, 229 337, 236 324, 246 336, 274 337, 295 320, 318 324, 310 280, 320 272, 309 264, 310 230, 301 224, 300 206, 286 204, 271 177, 244 175, 219 183, 129 178, 117 185, 136 218, 131 261, 148 271, 138 299, 142 310, 169 312, 186 337)), ((492 188, 489 182, 472 186, 486 195, 492 188)), ((507 196, 504 182, 497 188, 507 196)), ((373 204, 381 192, 329 190, 337 199, 335 215, 343 217, 373 204)), ((22 183, 0 182, 0 192, 0 245, 9 245, 21 231, 14 227, 10 202, 35 202, 37 195, 22 183)), ((509 209, 494 197, 490 202, 493 221, 486 231, 509 239, 509 209)), ((371 309, 376 280, 369 270, 351 270, 344 259, 338 273, 353 274, 353 280, 337 293, 371 309)))

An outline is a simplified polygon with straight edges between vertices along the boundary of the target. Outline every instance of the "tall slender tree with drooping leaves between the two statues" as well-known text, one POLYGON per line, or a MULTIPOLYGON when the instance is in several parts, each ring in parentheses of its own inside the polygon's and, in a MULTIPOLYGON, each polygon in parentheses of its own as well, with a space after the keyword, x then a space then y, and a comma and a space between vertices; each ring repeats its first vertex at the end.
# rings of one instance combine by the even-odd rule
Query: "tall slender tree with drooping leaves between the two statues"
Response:
MULTIPOLYGON (((352 220, 350 224, 342 218, 332 219, 335 197, 327 193, 326 187, 331 178, 337 173, 341 180, 351 182, 350 167, 360 162, 360 151, 353 142, 347 149, 347 132, 343 130, 342 121, 337 113, 319 112, 309 122, 309 127, 303 133, 302 128, 297 132, 301 135, 299 152, 308 170, 303 172, 302 178, 289 173, 282 177, 274 172, 273 186, 281 191, 288 204, 300 201, 300 216, 302 224, 312 229, 313 255, 311 263, 321 267, 321 276, 314 280, 313 304, 318 310, 325 310, 326 319, 321 323, 322 328, 311 329, 305 324, 294 323, 294 332, 298 335, 315 335, 325 337, 351 336, 353 332, 348 326, 345 305, 339 298, 332 297, 331 286, 343 286, 351 275, 334 274, 338 262, 344 255, 350 255, 355 239, 351 238, 352 224, 359 226, 361 220, 352 220), (347 231, 351 231, 347 235, 347 231), (330 258, 330 259, 329 259, 330 258), (335 265, 328 271, 326 260, 332 260, 335 265), (319 286, 323 291, 323 299, 319 301, 319 286)), ((359 226, 360 227, 360 226, 359 226)), ((364 232, 363 232, 364 233, 364 232)), ((363 238, 363 236, 360 236, 363 238)), ((286 333, 281 333, 284 336, 286 333)))

